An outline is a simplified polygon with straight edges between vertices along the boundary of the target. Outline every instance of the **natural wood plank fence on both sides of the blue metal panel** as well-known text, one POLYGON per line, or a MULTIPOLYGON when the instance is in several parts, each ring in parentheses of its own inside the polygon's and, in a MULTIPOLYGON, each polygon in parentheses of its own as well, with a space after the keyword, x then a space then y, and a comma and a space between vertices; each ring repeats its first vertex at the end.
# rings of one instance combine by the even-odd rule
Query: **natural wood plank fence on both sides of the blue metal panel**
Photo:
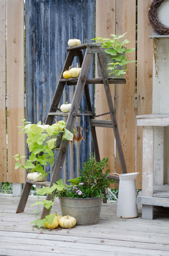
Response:
MULTIPOLYGON (((26 2, 28 3, 29 1, 26 0, 26 2)), ((33 2, 36 4, 37 1, 33 2)), ((41 2, 43 5, 44 1, 41 2)), ((50 1, 46 1, 45 4, 48 2, 50 1)), ((54 2, 57 3, 57 1, 54 2)), ((69 0, 68 2, 70 2, 69 4, 73 4, 74 1, 69 0)), ((80 2, 81 4, 85 4, 85 1, 79 2, 77 0, 77 2, 78 4, 80 2)), ((111 93, 113 101, 116 95, 116 117, 127 171, 134 172, 137 170, 137 172, 140 172, 137 178, 137 188, 140 189, 142 185, 142 128, 137 128, 135 117, 137 114, 152 113, 153 47, 151 39, 148 37, 152 34, 152 29, 147 19, 147 11, 151 1, 137 1, 137 16, 135 0, 91 0, 91 3, 94 7, 96 4, 96 36, 110 37, 110 34, 123 34, 127 32, 126 38, 131 41, 129 47, 137 48, 137 109, 135 104, 135 63, 129 65, 129 71, 127 71, 125 77, 126 84, 118 84, 116 88, 111 85, 111 93)), ((74 17, 76 17, 76 13, 74 17)), ((70 27, 73 26, 74 19, 72 18, 70 27)), ((79 26, 78 23, 75 24, 79 26)), ((26 26, 29 26, 28 22, 26 26)), ((85 27, 85 29, 87 30, 88 28, 85 27)), ((62 31, 60 33, 60 38, 62 38, 62 31)), ((0 182, 8 180, 8 182, 23 183, 25 181, 24 170, 16 172, 15 160, 12 158, 18 152, 21 155, 26 154, 24 135, 18 135, 19 128, 17 128, 17 126, 21 125, 20 120, 24 117, 23 0, 0 1, 0 35, 0 182), (6 24, 5 20, 7 20, 6 24), (5 53, 5 46, 7 47, 7 54, 5 53), (6 73, 7 76, 5 75, 6 73), (6 94, 7 127, 5 117, 6 94), (8 135, 8 158, 6 128, 8 135)), ((66 47, 67 42, 63 42, 63 44, 66 47)), ((32 52, 32 54, 36 53, 32 52)), ((130 60, 135 59, 135 54, 136 51, 130 54, 130 60)), ((96 113, 107 112, 108 107, 105 104, 104 89, 101 85, 96 85, 95 87, 95 102, 96 113)), ((107 119, 109 118, 107 116, 107 119)), ((105 119, 105 116, 103 119, 105 119)), ((97 128, 97 135, 99 138, 100 156, 109 158, 111 172, 114 172, 116 169, 116 172, 120 173, 120 163, 117 153, 115 158, 114 134, 112 129, 97 128)))

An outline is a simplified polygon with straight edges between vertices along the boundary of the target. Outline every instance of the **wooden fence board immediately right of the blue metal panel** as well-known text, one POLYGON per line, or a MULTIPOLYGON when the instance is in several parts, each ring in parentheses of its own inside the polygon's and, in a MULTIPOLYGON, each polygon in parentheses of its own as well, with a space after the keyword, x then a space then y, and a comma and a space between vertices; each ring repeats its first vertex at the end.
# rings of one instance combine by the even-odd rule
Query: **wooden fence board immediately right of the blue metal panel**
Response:
MULTIPOLYGON (((110 38, 115 34, 115 0, 96 0, 96 37, 110 38)), ((97 71, 97 68, 96 68, 97 71)), ((97 73, 96 73, 97 77, 97 73)), ((114 103, 115 85, 110 84, 111 96, 114 103)), ((96 114, 109 112, 103 84, 96 84, 96 114)), ((110 115, 98 119, 110 120, 110 115)), ((110 172, 115 170, 115 140, 112 128, 96 127, 100 158, 108 157, 110 172)))

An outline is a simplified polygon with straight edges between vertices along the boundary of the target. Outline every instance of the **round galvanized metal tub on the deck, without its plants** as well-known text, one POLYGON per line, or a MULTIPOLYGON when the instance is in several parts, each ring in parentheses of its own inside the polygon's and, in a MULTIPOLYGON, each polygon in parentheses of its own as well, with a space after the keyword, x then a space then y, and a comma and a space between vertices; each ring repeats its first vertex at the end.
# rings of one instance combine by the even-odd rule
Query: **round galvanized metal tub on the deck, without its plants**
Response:
POLYGON ((78 226, 94 225, 99 222, 103 198, 69 198, 59 196, 62 215, 73 216, 78 226))

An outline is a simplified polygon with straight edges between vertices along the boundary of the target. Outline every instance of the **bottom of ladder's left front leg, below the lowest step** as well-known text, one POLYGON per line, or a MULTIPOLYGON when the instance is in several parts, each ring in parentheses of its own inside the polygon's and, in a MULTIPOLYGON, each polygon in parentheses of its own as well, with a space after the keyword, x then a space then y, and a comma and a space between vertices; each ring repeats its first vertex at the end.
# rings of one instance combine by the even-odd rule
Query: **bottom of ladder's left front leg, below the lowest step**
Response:
POLYGON ((24 188, 22 191, 22 195, 20 197, 20 201, 19 201, 18 207, 16 209, 16 213, 20 213, 20 212, 24 211, 31 187, 32 187, 31 183, 25 182, 25 185, 24 185, 24 188))

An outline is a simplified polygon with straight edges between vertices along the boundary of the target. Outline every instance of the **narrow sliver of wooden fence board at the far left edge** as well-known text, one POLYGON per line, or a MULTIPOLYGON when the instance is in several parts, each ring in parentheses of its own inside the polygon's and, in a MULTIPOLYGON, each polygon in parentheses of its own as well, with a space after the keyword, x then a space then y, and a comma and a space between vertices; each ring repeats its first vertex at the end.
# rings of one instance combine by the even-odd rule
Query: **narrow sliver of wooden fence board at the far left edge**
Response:
POLYGON ((0 182, 7 181, 6 144, 6 1, 0 1, 0 182))

